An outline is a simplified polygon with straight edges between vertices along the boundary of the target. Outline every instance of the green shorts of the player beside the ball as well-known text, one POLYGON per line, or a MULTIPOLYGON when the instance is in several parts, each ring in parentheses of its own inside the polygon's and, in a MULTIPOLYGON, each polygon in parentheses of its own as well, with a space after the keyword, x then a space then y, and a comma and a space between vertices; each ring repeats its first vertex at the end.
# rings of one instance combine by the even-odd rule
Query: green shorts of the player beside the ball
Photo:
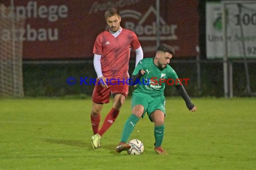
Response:
MULTIPOLYGON (((151 113, 154 110, 162 110, 165 115, 165 98, 164 96, 158 98, 152 98, 150 95, 145 93, 133 93, 132 94, 132 108, 136 105, 142 105, 144 107, 144 112, 142 118, 144 118, 146 112, 150 119, 151 113)), ((150 119, 151 122, 153 120, 150 119)))

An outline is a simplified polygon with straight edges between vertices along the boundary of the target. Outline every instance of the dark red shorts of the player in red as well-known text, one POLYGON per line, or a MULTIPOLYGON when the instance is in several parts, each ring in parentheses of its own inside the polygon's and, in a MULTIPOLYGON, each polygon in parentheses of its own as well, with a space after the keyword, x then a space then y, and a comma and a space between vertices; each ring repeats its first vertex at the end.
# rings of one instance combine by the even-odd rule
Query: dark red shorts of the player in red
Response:
MULTIPOLYGON (((124 79, 125 80, 125 79, 124 79)), ((126 83, 126 80, 123 82, 120 80, 118 81, 111 81, 111 83, 108 83, 108 88, 103 88, 101 84, 99 84, 99 79, 96 81, 96 85, 93 89, 93 102, 95 103, 109 103, 110 102, 110 95, 114 93, 120 93, 125 96, 125 98, 128 95, 128 83, 126 83)))

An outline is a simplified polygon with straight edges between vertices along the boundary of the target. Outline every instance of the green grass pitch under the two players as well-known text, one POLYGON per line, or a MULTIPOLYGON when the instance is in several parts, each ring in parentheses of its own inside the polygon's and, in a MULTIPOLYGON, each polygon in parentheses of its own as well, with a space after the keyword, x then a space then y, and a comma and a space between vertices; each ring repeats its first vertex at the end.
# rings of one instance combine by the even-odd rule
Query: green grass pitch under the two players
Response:
MULTIPOLYGON (((100 149, 90 139, 91 100, 0 99, 0 170, 255 170, 256 98, 167 98, 163 148, 154 153, 154 125, 146 117, 130 139, 144 153, 115 153, 131 114, 128 98, 100 149)), ((102 121, 112 104, 102 110, 102 121)))

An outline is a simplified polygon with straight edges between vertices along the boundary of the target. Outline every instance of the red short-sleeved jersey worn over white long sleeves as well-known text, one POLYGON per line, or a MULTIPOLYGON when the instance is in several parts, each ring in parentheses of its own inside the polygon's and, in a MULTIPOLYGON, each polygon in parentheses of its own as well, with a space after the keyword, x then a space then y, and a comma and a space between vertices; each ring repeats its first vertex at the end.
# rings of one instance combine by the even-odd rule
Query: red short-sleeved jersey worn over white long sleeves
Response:
POLYGON ((93 53, 102 55, 102 75, 106 78, 128 78, 128 64, 131 47, 133 50, 141 47, 137 35, 122 28, 121 33, 114 37, 109 31, 100 33, 93 47, 93 53))

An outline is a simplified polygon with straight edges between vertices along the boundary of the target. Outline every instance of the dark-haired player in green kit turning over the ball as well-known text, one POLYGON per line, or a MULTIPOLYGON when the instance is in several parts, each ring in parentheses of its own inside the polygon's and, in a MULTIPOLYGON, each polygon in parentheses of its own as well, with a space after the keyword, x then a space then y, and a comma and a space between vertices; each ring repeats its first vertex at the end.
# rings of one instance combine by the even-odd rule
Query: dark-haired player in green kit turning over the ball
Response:
POLYGON ((142 59, 132 73, 132 83, 136 89, 132 93, 132 115, 124 124, 124 130, 119 145, 115 150, 120 153, 131 148, 127 144, 136 123, 147 115, 154 123, 154 150, 157 154, 168 154, 161 146, 164 135, 165 97, 163 94, 166 80, 176 81, 174 84, 185 101, 187 108, 195 112, 196 106, 190 101, 176 72, 168 65, 174 55, 174 49, 167 44, 160 44, 154 58, 142 59), (136 81, 136 80, 140 81, 136 81), (178 80, 178 81, 177 81, 178 80))

